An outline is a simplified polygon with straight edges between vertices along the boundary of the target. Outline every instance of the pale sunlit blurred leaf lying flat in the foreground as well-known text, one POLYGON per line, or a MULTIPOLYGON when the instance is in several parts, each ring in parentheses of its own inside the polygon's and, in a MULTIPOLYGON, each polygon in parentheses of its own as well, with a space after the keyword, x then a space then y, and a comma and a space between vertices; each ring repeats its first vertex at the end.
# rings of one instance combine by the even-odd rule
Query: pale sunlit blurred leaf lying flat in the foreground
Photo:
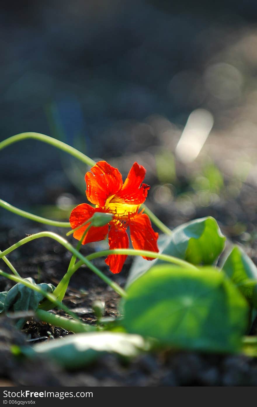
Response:
POLYGON ((139 352, 149 350, 150 344, 139 335, 113 332, 94 332, 68 335, 33 348, 22 348, 29 357, 50 358, 65 368, 79 368, 97 359, 104 353, 121 357, 135 357, 139 352))

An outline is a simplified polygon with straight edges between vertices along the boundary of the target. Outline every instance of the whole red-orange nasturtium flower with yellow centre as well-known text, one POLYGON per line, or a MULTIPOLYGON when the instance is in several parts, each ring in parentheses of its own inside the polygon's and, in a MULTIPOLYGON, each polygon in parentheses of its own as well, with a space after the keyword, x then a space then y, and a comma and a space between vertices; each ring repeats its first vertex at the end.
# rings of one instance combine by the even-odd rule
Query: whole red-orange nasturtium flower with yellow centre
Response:
MULTIPOLYGON (((91 218, 94 213, 102 212, 112 214, 109 223, 103 226, 91 226, 83 239, 82 244, 104 240, 108 234, 110 249, 127 249, 129 246, 127 228, 129 227, 131 242, 134 249, 159 252, 157 246, 158 233, 151 226, 149 217, 139 212, 150 188, 142 184, 146 169, 135 162, 128 173, 125 182, 117 168, 106 161, 97 162, 91 171, 85 175, 87 184, 86 195, 89 202, 95 205, 80 204, 70 214, 72 229, 77 228, 91 218)), ((74 231, 75 239, 81 240, 87 225, 74 231)), ((112 273, 120 273, 126 255, 111 254, 105 259, 112 273)), ((143 256, 144 257, 144 256, 143 256)), ((144 257, 152 260, 150 257, 144 257)))

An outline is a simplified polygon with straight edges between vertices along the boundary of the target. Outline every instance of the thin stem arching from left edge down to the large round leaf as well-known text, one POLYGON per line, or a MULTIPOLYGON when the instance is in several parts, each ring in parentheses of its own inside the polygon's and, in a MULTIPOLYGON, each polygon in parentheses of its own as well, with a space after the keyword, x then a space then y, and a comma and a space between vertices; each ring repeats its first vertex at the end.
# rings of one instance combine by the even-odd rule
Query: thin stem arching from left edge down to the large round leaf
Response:
POLYGON ((96 266, 91 264, 90 261, 87 258, 85 258, 80 252, 78 252, 76 249, 74 249, 74 247, 67 240, 63 239, 63 237, 61 237, 58 234, 53 233, 53 232, 39 232, 39 233, 32 234, 32 235, 30 235, 28 237, 25 237, 24 239, 22 239, 19 242, 15 243, 14 245, 9 247, 8 249, 4 250, 4 252, 2 252, 2 254, 0 254, 0 258, 2 258, 3 256, 6 256, 7 254, 11 253, 13 250, 17 249, 17 247, 20 247, 20 246, 24 245, 25 243, 28 243, 28 242, 30 242, 30 241, 32 241, 34 239, 39 239, 41 237, 50 237, 51 239, 54 239, 57 242, 59 242, 67 250, 69 250, 70 252, 75 254, 80 260, 82 260, 82 262, 85 265, 87 265, 87 267, 89 269, 94 271, 94 273, 97 274, 98 277, 102 278, 102 280, 104 280, 107 284, 109 284, 109 286, 114 291, 116 291, 122 297, 126 297, 126 292, 118 284, 113 282, 110 278, 105 276, 105 274, 103 274, 102 271, 100 271, 96 266))

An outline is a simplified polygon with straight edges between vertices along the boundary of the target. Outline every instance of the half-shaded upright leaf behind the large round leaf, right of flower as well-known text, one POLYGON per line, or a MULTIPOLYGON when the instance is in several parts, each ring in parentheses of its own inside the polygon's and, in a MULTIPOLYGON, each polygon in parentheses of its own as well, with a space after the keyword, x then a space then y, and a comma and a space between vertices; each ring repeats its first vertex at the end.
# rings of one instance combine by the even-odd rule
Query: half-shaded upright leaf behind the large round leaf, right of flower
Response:
MULTIPOLYGON (((226 238, 213 217, 205 217, 185 223, 173 230, 171 236, 161 235, 158 239, 159 252, 178 257, 195 265, 212 265, 222 253, 226 238)), ((127 287, 142 276, 154 264, 162 260, 136 258, 131 267, 127 287)))

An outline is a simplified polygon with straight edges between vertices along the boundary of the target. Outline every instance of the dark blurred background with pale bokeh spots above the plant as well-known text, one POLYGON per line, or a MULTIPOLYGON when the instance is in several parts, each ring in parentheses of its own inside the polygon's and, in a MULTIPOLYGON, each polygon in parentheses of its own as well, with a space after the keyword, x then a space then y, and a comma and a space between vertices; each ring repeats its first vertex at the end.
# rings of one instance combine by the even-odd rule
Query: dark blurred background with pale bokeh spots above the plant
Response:
MULTIPOLYGON (((48 134, 124 177, 138 161, 147 204, 164 223, 214 216, 255 256, 254 0, 22 0, 1 9, 0 140, 48 134)), ((86 171, 46 144, 14 144, 0 152, 0 197, 67 220, 86 201, 86 171)), ((28 222, 1 208, 0 218, 2 232, 28 222)))

